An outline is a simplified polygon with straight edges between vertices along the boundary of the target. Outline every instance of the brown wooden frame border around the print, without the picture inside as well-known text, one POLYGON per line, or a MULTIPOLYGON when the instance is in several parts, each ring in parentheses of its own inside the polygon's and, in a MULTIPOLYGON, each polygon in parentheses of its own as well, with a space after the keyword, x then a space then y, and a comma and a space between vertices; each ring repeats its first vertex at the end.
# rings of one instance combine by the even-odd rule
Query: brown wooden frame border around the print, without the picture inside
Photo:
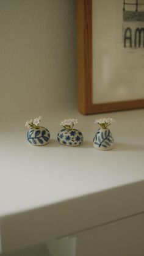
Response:
MULTIPOLYGON (((95 0, 94 0, 95 1, 95 0)), ((99 0, 100 1, 100 0, 99 0)), ((93 103, 92 87, 92 2, 77 0, 77 55, 79 111, 82 114, 120 111, 144 107, 144 99, 93 103)))

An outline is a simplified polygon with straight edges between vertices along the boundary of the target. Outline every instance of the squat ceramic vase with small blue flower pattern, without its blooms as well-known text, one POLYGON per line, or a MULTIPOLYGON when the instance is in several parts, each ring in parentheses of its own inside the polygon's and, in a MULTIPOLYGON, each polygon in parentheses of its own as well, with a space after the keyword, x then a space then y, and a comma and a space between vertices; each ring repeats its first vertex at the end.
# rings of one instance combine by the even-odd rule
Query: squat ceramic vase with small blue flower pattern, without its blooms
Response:
POLYGON ((79 146, 82 144, 84 136, 81 131, 76 129, 67 130, 63 128, 57 134, 57 140, 62 145, 79 146))

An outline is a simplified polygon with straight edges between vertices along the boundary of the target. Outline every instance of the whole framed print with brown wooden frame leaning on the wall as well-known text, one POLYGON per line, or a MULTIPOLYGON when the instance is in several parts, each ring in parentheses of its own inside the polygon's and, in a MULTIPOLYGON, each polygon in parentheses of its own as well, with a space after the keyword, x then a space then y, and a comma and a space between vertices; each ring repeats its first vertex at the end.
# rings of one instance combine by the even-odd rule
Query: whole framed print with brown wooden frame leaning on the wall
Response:
POLYGON ((144 0, 77 0, 79 111, 144 107, 144 0))

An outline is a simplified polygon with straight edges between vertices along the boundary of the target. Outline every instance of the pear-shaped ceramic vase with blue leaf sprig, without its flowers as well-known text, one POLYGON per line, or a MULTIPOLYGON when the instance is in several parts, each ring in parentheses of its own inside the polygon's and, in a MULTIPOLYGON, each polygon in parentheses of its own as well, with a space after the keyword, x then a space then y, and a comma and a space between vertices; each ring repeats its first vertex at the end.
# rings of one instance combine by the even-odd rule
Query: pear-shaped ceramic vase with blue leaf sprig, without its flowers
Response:
POLYGON ((110 150, 113 148, 114 140, 108 128, 99 128, 93 139, 93 147, 99 150, 110 150))

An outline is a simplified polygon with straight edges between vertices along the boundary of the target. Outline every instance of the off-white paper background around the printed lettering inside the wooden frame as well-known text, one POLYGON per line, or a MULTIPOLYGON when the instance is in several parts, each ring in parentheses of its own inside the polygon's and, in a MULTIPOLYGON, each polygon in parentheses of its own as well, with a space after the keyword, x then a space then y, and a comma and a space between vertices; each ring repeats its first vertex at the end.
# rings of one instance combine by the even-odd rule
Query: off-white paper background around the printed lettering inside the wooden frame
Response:
MULTIPOLYGON (((129 4, 129 0, 125 2, 129 4)), ((144 1, 140 3, 142 11, 144 1)), ((128 4, 125 10, 134 12, 135 5, 128 4)), ((123 5, 123 0, 92 1, 93 104, 144 98, 144 48, 142 44, 134 45, 135 30, 144 27, 144 21, 124 21, 123 5), (131 40, 128 31, 124 47, 128 27, 131 40)), ((139 33, 137 37, 139 41, 139 33)))

